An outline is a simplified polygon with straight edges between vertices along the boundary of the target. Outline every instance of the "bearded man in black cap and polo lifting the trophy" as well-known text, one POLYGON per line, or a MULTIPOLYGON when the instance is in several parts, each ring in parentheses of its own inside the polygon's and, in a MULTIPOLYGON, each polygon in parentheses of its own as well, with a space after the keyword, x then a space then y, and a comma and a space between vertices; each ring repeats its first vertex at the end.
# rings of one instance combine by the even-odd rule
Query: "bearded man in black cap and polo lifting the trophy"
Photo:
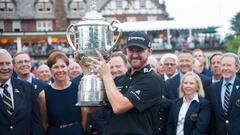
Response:
POLYGON ((145 33, 130 34, 126 48, 131 68, 114 80, 99 51, 98 59, 89 57, 86 60, 100 75, 112 108, 106 134, 152 135, 156 130, 154 123, 157 121, 164 82, 147 64, 152 49, 145 33))

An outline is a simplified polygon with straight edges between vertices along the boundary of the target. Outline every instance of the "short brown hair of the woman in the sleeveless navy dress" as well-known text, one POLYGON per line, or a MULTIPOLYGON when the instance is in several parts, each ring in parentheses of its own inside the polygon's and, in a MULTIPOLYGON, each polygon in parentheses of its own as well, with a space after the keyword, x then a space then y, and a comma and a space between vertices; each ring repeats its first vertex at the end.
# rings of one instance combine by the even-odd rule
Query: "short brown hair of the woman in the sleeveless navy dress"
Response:
POLYGON ((66 63, 66 65, 69 65, 68 57, 65 55, 65 53, 60 51, 54 51, 52 52, 47 59, 47 65, 49 68, 51 68, 58 59, 63 59, 63 61, 66 63))

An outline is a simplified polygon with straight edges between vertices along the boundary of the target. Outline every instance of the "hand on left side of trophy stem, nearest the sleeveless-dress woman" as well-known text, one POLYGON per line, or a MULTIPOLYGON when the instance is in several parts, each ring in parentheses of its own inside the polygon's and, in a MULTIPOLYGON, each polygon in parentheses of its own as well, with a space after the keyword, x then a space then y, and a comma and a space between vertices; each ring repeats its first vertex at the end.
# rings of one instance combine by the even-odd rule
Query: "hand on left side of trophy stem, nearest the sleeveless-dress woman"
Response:
POLYGON ((90 74, 89 65, 86 62, 87 58, 84 56, 84 54, 78 51, 74 51, 73 55, 75 61, 81 66, 83 74, 90 74))

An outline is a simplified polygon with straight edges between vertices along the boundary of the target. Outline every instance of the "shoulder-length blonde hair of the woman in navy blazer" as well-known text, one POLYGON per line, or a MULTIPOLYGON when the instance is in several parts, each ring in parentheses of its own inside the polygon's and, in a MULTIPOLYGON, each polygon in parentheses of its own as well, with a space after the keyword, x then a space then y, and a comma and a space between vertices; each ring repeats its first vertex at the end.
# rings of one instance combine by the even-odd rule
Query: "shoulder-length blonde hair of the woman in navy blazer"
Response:
POLYGON ((205 92, 203 90, 203 85, 202 85, 202 81, 200 79, 200 77, 196 74, 196 73, 193 73, 193 72, 187 72, 184 74, 183 76, 183 79, 181 80, 181 83, 180 83, 180 86, 179 86, 179 95, 180 97, 183 97, 184 96, 184 93, 183 93, 183 81, 186 79, 187 76, 193 76, 193 78, 196 80, 197 82, 197 87, 198 87, 198 90, 197 90, 197 93, 199 96, 201 97, 205 97, 205 92))

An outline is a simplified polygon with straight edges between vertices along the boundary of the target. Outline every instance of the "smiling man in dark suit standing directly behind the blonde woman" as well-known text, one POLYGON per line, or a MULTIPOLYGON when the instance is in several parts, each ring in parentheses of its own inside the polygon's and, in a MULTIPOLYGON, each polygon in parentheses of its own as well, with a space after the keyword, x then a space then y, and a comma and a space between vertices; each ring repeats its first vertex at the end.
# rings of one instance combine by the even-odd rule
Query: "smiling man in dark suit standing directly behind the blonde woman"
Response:
MULTIPOLYGON (((181 78, 187 72, 193 72, 193 63, 194 58, 189 51, 183 51, 179 54, 178 57, 178 68, 179 73, 173 78, 166 81, 166 98, 168 99, 177 99, 179 98, 178 87, 180 85, 181 78)), ((211 85, 211 79, 202 74, 198 74, 201 78, 203 89, 206 90, 208 86, 211 85)))

